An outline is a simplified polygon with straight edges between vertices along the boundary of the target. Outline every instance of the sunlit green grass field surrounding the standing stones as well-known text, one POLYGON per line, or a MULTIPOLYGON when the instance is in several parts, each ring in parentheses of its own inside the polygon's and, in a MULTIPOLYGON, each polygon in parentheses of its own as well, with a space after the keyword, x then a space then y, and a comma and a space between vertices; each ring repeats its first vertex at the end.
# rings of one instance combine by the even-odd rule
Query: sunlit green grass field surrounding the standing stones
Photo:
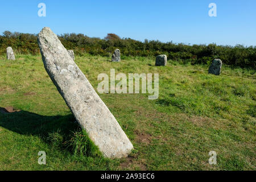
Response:
POLYGON ((159 98, 148 94, 99 94, 134 144, 125 159, 106 159, 75 123, 47 75, 39 56, 0 57, 0 170, 255 170, 256 75, 222 67, 208 75, 208 65, 180 65, 168 60, 123 57, 76 57, 97 90, 100 73, 159 73, 159 98), (46 151, 46 165, 38 152, 46 151), (209 151, 217 164, 209 165, 209 151))

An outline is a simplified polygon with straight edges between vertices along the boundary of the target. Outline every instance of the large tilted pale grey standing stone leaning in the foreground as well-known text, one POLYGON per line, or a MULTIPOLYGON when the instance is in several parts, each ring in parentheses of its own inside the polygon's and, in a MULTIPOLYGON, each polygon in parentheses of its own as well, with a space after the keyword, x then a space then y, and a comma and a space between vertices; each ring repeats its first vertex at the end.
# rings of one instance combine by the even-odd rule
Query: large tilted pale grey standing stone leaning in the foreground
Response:
POLYGON ((90 139, 106 157, 126 157, 133 144, 57 36, 43 28, 38 43, 44 68, 90 139))

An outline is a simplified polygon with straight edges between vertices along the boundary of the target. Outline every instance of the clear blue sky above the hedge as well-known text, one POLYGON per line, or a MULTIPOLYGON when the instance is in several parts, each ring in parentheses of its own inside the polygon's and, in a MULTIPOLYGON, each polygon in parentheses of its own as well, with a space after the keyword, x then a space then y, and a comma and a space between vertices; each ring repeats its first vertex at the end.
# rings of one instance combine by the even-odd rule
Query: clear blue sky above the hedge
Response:
POLYGON ((255 0, 9 0, 0 3, 0 32, 82 33, 104 38, 162 42, 256 46, 255 0), (38 4, 46 4, 46 17, 38 4), (216 3, 217 17, 208 15, 216 3))

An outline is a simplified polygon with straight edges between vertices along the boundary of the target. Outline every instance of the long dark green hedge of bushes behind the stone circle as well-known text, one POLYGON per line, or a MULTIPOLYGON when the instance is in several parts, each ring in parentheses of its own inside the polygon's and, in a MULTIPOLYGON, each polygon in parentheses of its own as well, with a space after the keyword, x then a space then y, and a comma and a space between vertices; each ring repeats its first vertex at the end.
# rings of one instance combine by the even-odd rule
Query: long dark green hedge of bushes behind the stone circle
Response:
MULTIPOLYGON (((169 60, 181 64, 210 64, 213 59, 220 58, 224 64, 233 67, 253 68, 256 66, 256 47, 217 46, 216 44, 193 45, 162 43, 159 40, 140 42, 130 38, 119 38, 108 34, 105 39, 89 38, 84 34, 63 34, 59 36, 67 49, 73 49, 76 55, 109 56, 119 48, 124 56, 152 57, 166 54, 169 60)), ((38 55, 40 53, 35 34, 22 34, 5 31, 0 36, 0 54, 5 54, 6 47, 13 47, 15 53, 38 55)))

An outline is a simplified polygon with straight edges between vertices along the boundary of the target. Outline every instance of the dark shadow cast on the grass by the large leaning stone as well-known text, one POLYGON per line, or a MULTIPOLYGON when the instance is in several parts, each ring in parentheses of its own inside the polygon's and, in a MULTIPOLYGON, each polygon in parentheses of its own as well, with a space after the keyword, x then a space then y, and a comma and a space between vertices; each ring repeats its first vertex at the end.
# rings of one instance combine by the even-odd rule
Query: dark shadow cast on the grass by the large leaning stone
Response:
POLYGON ((69 134, 80 129, 72 114, 44 116, 28 111, 0 113, 0 126, 22 135, 40 136, 47 141, 49 133, 61 131, 69 134))

